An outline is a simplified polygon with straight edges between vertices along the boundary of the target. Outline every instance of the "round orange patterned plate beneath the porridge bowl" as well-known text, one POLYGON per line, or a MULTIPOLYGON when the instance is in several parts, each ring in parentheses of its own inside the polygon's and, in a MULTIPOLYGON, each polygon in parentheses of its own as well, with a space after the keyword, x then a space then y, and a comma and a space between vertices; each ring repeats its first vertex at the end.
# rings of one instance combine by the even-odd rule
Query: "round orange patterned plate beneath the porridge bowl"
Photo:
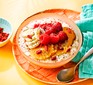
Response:
MULTIPOLYGON (((57 13, 57 14, 65 14, 68 18, 70 18, 71 20, 75 21, 75 20, 79 20, 79 12, 75 12, 72 10, 67 10, 67 9, 51 9, 51 10, 46 10, 43 11, 44 13, 57 13)), ((45 83, 49 83, 49 84, 63 84, 64 82, 59 82, 56 79, 56 75, 57 73, 64 68, 68 68, 71 67, 73 65, 75 65, 75 63, 73 62, 69 62, 68 64, 60 67, 60 68, 51 68, 51 69, 47 69, 47 68, 42 68, 39 67, 37 65, 34 65, 33 63, 30 63, 26 58, 24 58, 21 55, 21 52, 18 48, 18 45, 16 43, 16 35, 14 37, 13 40, 13 53, 14 53, 14 57, 15 60, 17 61, 18 65, 20 65, 20 67, 27 73, 29 74, 31 77, 45 82, 45 83)), ((81 82, 84 81, 86 79, 79 79, 78 78, 78 71, 76 71, 76 75, 73 81, 67 83, 67 84, 72 84, 72 83, 77 83, 77 82, 81 82)))

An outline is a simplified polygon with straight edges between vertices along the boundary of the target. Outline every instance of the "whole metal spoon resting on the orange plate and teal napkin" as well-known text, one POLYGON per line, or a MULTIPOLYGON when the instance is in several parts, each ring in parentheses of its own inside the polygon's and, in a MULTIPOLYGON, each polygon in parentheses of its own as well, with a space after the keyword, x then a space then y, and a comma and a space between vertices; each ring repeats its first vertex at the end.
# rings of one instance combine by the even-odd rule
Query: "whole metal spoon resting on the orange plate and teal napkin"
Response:
POLYGON ((70 82, 73 80, 77 66, 92 53, 93 47, 81 58, 81 60, 74 67, 61 70, 57 75, 57 79, 62 82, 70 82))

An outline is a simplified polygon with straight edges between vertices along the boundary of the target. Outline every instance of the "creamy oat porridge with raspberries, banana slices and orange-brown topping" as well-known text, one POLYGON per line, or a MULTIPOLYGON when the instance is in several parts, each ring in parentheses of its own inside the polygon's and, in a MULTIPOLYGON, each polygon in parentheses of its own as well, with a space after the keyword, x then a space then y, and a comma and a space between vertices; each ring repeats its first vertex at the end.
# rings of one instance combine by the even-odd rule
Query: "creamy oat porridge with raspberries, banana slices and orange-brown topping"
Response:
POLYGON ((43 18, 26 25, 21 30, 18 43, 27 57, 53 63, 73 55, 79 39, 74 30, 60 19, 43 18))

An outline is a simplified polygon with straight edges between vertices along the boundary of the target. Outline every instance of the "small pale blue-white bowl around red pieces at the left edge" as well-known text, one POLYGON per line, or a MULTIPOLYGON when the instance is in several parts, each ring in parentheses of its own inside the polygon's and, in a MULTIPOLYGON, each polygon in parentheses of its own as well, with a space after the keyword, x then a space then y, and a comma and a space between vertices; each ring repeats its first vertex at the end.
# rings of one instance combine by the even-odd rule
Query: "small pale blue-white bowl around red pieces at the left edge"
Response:
POLYGON ((0 27, 3 28, 3 32, 9 34, 8 38, 5 41, 0 42, 0 47, 2 47, 6 45, 10 40, 10 37, 12 35, 12 26, 7 20, 5 20, 4 18, 0 18, 0 27))

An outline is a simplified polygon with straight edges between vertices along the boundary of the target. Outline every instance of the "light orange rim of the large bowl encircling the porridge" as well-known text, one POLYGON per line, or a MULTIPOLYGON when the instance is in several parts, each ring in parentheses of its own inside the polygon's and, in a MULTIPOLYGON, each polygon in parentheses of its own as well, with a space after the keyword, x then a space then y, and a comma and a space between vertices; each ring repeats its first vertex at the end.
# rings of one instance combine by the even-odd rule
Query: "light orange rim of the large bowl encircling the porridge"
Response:
MULTIPOLYGON (((20 34, 20 31, 22 30, 22 28, 25 26, 25 25, 27 25, 29 22, 31 22, 31 19, 29 19, 29 18, 32 18, 33 16, 35 16, 35 15, 38 15, 38 14, 53 14, 53 15, 55 15, 55 16, 60 16, 60 15, 58 15, 58 14, 54 14, 54 13, 43 13, 43 12, 39 12, 39 13, 36 13, 36 14, 34 14, 34 15, 32 15, 32 16, 30 16, 30 17, 28 17, 27 19, 25 19, 22 23, 21 23, 21 25, 19 26, 19 28, 18 28, 18 30, 17 30, 17 32, 16 32, 16 43, 17 43, 17 45, 18 45, 18 35, 20 34), (28 20, 28 22, 25 24, 25 22, 28 20)), ((66 15, 61 15, 61 17, 65 17, 67 20, 69 20, 71 23, 74 23, 73 21, 71 21, 69 18, 67 18, 66 17, 66 15)), ((33 20, 33 19, 32 19, 33 20)), ((44 62, 40 62, 40 61, 36 61, 36 60, 34 60, 34 59, 31 59, 30 58, 30 56, 26 56, 25 54, 24 54, 24 52, 21 50, 21 48, 20 48, 20 46, 18 45, 18 48, 19 48, 19 50, 21 51, 21 53, 22 53, 22 55, 30 62, 30 63, 33 63, 33 64, 36 64, 36 65, 38 65, 38 66, 41 66, 41 67, 44 67, 44 68, 57 68, 57 67, 61 67, 61 66, 63 66, 64 64, 66 64, 66 63, 68 63, 68 62, 70 62, 76 55, 77 55, 77 53, 78 53, 78 51, 80 50, 80 47, 81 47, 81 44, 82 44, 82 34, 81 34, 81 31, 80 31, 80 29, 77 27, 77 25, 76 24, 74 24, 75 25, 75 27, 77 28, 77 30, 78 30, 78 32, 79 32, 79 38, 80 38, 80 42, 79 42, 79 46, 78 46, 78 49, 77 49, 77 52, 76 53, 74 53, 74 55, 73 55, 73 57, 69 57, 69 58, 67 58, 66 60, 63 60, 64 61, 64 63, 62 62, 62 60, 61 61, 59 61, 59 62, 56 62, 56 63, 44 63, 44 62), (63 64, 62 64, 63 63, 63 64)))

